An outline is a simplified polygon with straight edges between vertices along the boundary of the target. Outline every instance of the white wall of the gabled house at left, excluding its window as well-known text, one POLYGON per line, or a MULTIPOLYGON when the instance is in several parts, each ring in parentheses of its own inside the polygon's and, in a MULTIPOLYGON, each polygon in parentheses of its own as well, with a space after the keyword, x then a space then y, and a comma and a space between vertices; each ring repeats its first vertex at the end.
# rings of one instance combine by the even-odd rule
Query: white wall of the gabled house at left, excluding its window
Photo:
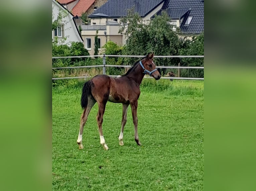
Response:
POLYGON ((56 20, 59 11, 65 11, 66 16, 62 18, 60 24, 63 24, 63 37, 66 37, 67 39, 63 41, 64 38, 58 38, 58 42, 60 44, 67 44, 68 46, 71 46, 71 42, 83 43, 83 40, 81 39, 76 25, 73 21, 73 16, 68 13, 67 10, 63 9, 63 7, 57 4, 54 0, 52 0, 52 21, 56 20))

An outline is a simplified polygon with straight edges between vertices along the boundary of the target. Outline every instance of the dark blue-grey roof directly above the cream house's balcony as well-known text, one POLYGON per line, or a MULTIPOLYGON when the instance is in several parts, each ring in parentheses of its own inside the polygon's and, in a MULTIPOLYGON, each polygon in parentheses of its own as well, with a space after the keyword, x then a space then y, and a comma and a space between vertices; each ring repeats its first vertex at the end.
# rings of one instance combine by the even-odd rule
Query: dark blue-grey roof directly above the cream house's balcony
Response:
MULTIPOLYGON (((108 0, 104 5, 95 10, 92 15, 102 13, 109 17, 125 17, 128 9, 135 7, 135 12, 145 17, 164 0, 108 0)), ((91 17, 91 15, 89 16, 91 17)))

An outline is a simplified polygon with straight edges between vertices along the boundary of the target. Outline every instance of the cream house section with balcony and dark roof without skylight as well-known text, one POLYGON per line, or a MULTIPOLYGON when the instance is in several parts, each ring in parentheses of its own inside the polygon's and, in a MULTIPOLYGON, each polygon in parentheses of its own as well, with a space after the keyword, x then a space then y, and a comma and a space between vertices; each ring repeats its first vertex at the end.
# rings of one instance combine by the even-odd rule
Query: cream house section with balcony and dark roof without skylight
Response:
MULTIPOLYGON (((120 18, 127 16, 128 9, 135 8, 143 21, 147 22, 157 13, 166 0, 108 0, 105 4, 95 10, 89 18, 90 25, 77 23, 82 28, 82 37, 85 48, 90 54, 94 54, 94 37, 98 30, 98 41, 100 47, 104 46, 107 41, 113 41, 118 45, 125 43, 125 38, 119 34, 120 18)), ((99 53, 102 49, 99 49, 99 53)))

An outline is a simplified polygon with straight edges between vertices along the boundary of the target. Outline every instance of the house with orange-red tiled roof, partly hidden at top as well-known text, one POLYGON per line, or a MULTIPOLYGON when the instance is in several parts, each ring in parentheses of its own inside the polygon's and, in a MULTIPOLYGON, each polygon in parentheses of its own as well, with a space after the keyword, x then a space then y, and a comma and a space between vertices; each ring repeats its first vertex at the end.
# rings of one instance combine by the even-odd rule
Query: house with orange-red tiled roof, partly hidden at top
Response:
POLYGON ((83 13, 90 15, 97 10, 107 0, 58 0, 73 15, 81 17, 83 13))

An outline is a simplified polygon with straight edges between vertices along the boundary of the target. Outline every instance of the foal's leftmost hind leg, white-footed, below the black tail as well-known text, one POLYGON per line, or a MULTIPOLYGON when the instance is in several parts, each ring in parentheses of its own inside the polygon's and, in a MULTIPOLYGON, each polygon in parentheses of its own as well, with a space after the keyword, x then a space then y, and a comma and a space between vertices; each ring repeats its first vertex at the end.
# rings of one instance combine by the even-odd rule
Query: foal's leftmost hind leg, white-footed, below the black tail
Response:
POLYGON ((84 111, 81 115, 81 120, 80 120, 80 130, 79 130, 78 139, 77 139, 77 144, 79 145, 79 149, 84 148, 84 146, 82 144, 84 125, 85 125, 88 115, 95 103, 96 103, 96 101, 93 98, 91 98, 90 96, 88 96, 88 104, 87 104, 87 107, 84 109, 84 111))

